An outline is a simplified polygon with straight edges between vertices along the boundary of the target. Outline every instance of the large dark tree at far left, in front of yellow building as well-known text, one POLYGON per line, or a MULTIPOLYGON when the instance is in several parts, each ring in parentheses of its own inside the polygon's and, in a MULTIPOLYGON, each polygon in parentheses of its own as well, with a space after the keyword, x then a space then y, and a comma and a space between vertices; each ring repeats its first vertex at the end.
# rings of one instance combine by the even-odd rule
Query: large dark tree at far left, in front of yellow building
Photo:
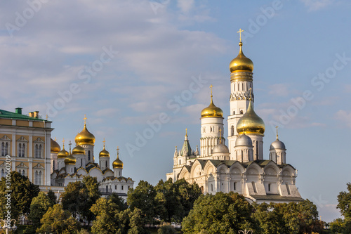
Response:
POLYGON ((6 186, 5 177, 1 178, 0 181, 0 219, 4 219, 4 215, 7 211, 6 194, 11 194, 11 218, 18 219, 20 214, 29 214, 32 199, 37 197, 39 193, 39 186, 30 182, 27 176, 22 176, 17 171, 11 171, 10 177, 10 189, 6 186), (11 190, 12 192, 5 192, 6 190, 11 190))

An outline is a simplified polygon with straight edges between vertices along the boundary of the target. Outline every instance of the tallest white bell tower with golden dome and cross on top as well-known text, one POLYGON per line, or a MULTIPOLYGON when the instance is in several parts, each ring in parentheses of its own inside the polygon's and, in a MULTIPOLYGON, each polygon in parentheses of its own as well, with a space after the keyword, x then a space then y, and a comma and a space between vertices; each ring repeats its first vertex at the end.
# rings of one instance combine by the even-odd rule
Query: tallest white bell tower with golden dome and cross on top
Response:
POLYGON ((234 157, 235 140, 237 139, 237 123, 249 108, 249 98, 253 98, 253 63, 242 51, 241 32, 239 30, 239 54, 230 62, 230 115, 228 116, 228 146, 231 157, 234 157))

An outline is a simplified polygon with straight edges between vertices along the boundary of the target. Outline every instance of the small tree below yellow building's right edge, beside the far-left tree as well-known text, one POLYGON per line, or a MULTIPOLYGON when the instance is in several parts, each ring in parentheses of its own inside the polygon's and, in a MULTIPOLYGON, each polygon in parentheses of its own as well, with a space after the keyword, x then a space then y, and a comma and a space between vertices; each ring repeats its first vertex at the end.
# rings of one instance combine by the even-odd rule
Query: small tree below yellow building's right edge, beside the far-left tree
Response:
POLYGON ((39 192, 30 204, 30 213, 28 218, 32 220, 34 230, 40 226, 40 220, 48 211, 48 208, 54 205, 53 201, 43 192, 39 192))

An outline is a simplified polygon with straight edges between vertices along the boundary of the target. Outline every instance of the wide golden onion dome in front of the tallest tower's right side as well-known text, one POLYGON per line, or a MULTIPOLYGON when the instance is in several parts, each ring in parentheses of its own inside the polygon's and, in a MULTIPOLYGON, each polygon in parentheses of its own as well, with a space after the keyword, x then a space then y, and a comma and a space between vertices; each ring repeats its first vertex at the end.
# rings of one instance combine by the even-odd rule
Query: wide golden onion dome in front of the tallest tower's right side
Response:
POLYGON ((265 122, 255 113, 250 99, 249 108, 246 113, 239 119, 237 123, 238 134, 258 134, 265 133, 265 122))

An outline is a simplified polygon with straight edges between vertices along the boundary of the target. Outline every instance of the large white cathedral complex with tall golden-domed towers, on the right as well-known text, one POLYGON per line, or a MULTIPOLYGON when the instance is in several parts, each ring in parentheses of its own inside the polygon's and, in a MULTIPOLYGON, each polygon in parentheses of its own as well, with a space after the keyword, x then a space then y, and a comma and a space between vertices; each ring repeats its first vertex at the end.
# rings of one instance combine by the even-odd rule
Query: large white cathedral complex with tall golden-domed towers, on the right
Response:
MULTIPOLYGON (((240 30, 241 31, 241 30, 240 30)), ((286 148, 277 139, 270 145, 270 160, 263 158, 265 123, 253 110, 253 63, 239 55, 230 62, 230 116, 228 147, 223 137, 223 111, 211 102, 201 111, 200 149, 192 150, 185 134, 180 151, 174 152, 173 181, 185 178, 203 193, 230 191, 254 202, 298 202, 297 170, 286 164, 286 148)))

